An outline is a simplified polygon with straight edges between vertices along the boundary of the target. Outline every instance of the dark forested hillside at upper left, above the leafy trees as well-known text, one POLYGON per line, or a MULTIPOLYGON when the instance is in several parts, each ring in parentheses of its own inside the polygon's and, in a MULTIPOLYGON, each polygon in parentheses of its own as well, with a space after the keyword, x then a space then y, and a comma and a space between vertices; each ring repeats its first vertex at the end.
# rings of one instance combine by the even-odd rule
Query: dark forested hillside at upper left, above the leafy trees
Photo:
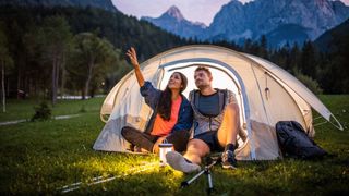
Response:
POLYGON ((142 53, 141 60, 185 44, 184 39, 176 35, 148 22, 140 22, 135 17, 127 16, 121 12, 112 13, 103 9, 75 7, 0 7, 0 20, 4 21, 11 30, 10 40, 19 39, 31 27, 52 15, 63 16, 69 22, 73 34, 97 32, 98 36, 106 37, 116 48, 121 50, 125 50, 130 46, 136 47, 142 53))

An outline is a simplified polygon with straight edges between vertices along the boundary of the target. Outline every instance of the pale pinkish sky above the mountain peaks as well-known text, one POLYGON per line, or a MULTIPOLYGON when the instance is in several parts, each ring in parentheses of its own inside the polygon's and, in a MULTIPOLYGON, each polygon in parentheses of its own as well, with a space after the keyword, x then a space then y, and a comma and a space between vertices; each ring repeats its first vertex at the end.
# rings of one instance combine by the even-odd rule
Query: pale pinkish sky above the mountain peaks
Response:
MULTIPOLYGON (((230 0, 112 0, 113 4, 127 15, 158 17, 171 5, 179 8, 183 16, 192 22, 209 25, 221 5, 230 0)), ((240 0, 249 2, 251 0, 240 0)), ((341 0, 349 5, 349 0, 341 0)))

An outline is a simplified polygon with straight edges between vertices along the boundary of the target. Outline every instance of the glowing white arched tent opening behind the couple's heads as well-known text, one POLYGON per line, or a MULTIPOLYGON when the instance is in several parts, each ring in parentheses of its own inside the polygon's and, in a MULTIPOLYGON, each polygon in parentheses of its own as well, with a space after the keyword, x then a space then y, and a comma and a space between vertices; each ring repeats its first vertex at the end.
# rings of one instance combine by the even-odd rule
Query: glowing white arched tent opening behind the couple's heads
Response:
POLYGON ((238 136, 237 143, 239 148, 243 148, 248 144, 248 130, 246 130, 246 115, 245 107, 243 101, 243 95, 241 93, 241 84, 237 75, 234 75, 230 70, 221 66, 220 64, 206 62, 206 61, 195 61, 195 62, 178 62, 161 65, 161 78, 159 79, 159 88, 165 89, 166 85, 173 72, 181 72, 188 78, 188 87, 183 91, 185 97, 189 97, 189 93, 193 89, 197 89, 194 81, 194 71, 200 65, 205 65, 209 68, 213 74, 213 87, 220 89, 229 89, 236 94, 238 105, 240 108, 240 122, 241 122, 241 136, 238 136))

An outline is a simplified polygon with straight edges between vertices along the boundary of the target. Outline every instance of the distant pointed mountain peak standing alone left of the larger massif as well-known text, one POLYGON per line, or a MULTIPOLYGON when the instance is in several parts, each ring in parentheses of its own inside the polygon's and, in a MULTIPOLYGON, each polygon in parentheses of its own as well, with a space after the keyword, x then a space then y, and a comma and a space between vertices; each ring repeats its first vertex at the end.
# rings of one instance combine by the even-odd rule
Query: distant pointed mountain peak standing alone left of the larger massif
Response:
POLYGON ((206 28, 203 23, 193 23, 184 19, 177 7, 169 8, 159 17, 142 17, 141 20, 148 21, 154 25, 176 35, 185 38, 194 38, 204 33, 206 28))

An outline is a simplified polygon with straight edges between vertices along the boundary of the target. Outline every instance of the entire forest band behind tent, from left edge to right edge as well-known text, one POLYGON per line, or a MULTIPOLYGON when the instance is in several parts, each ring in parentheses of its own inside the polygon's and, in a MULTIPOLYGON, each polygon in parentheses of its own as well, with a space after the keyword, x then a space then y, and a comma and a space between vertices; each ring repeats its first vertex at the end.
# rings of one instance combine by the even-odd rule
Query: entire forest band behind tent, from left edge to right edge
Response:
POLYGON ((311 41, 269 49, 267 39, 228 41, 183 39, 145 21, 94 8, 0 7, 1 95, 83 98, 110 89, 131 66, 124 51, 134 46, 143 61, 170 48, 208 44, 252 53, 280 65, 314 93, 348 93, 348 38, 320 52, 311 41))

